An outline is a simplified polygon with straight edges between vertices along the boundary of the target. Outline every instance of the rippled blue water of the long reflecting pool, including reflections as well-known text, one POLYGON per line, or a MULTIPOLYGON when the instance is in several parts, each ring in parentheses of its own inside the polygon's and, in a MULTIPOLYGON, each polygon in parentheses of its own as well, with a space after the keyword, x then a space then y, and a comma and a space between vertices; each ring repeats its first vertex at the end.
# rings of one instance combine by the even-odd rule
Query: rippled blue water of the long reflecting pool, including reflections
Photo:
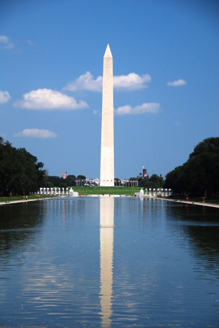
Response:
POLYGON ((7 204, 0 251, 0 327, 219 327, 218 208, 7 204))

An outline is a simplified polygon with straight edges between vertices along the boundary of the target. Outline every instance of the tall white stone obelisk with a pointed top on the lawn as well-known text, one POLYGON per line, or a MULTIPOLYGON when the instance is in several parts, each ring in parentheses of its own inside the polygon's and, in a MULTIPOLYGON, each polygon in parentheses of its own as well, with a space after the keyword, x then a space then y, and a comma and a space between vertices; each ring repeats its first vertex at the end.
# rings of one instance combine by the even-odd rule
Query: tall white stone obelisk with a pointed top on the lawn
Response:
POLYGON ((114 186, 113 69, 109 44, 103 57, 100 186, 114 186))

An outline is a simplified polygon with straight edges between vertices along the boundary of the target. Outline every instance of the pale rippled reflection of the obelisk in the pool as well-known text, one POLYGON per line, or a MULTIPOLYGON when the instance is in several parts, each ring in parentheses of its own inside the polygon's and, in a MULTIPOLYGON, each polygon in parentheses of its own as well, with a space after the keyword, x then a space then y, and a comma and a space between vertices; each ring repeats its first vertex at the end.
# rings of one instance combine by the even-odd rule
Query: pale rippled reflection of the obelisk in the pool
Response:
POLYGON ((112 314, 114 199, 100 198, 100 305, 102 327, 110 327, 112 314))

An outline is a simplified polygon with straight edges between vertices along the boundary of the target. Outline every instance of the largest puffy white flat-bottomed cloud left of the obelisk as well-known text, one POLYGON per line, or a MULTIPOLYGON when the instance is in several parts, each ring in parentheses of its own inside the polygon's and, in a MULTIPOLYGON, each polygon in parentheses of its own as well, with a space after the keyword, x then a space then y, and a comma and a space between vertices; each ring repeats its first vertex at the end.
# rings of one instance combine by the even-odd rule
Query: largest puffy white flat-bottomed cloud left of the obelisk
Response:
POLYGON ((23 100, 18 100, 13 105, 15 107, 36 110, 71 110, 88 107, 86 101, 79 100, 77 102, 74 97, 69 97, 66 94, 51 89, 32 90, 23 94, 23 100))

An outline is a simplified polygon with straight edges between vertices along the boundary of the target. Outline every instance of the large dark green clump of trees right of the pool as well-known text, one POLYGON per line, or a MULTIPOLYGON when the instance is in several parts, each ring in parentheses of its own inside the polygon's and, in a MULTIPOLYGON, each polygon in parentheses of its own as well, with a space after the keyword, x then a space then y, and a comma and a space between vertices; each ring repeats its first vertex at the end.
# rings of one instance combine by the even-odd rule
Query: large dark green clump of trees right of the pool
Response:
POLYGON ((204 139, 186 163, 166 175, 165 186, 178 194, 204 197, 219 195, 219 137, 204 139))

